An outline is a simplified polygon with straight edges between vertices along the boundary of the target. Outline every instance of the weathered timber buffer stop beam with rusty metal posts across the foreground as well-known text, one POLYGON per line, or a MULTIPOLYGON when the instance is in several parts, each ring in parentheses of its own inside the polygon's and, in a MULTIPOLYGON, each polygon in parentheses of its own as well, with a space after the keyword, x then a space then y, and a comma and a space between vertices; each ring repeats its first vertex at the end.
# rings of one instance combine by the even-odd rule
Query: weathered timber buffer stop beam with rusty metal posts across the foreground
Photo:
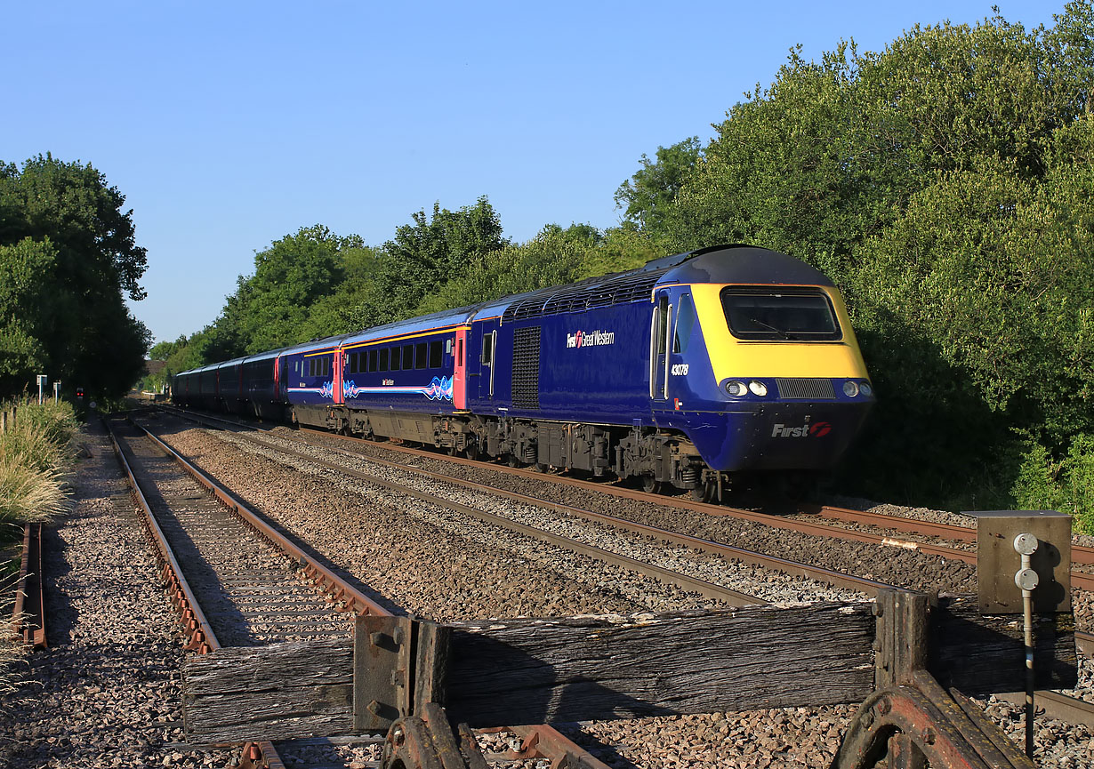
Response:
MULTIPOLYGON (((997 549, 1009 543, 1003 517, 981 522, 997 549)), ((1059 595, 1070 536, 1036 536, 1051 557, 1033 566, 1059 595)), ((860 702, 838 769, 886 756, 903 769, 1033 767, 968 697, 1074 686, 1070 604, 1056 610, 1038 598, 1028 633, 1010 593, 1001 606, 900 590, 872 604, 630 616, 449 625, 363 616, 352 639, 189 657, 187 738, 386 733, 385 766, 465 769, 485 766, 469 729, 860 702)), ((532 745, 547 738, 527 734, 532 745)), ((566 760, 559 766, 595 766, 566 760)))

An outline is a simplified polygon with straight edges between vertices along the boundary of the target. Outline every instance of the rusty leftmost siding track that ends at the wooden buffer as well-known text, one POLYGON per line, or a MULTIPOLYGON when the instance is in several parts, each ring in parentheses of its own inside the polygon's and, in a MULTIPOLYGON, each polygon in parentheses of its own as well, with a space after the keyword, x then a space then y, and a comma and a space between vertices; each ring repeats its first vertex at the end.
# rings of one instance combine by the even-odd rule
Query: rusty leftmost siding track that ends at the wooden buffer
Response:
MULTIPOLYGON (((392 614, 147 430, 131 421, 107 429, 160 552, 188 648, 213 652, 345 636, 358 615, 392 614), (241 543, 251 547, 249 557, 241 558, 248 555, 241 552, 241 543)), ((491 759, 559 762, 569 757, 581 769, 607 769, 546 724, 513 734, 517 739, 510 749, 490 754, 491 759)), ((315 742, 288 741, 282 747, 299 750, 315 742)), ((360 735, 341 742, 379 747, 383 738, 360 735)), ((284 762, 274 743, 258 742, 243 746, 240 766, 283 769, 284 762)))

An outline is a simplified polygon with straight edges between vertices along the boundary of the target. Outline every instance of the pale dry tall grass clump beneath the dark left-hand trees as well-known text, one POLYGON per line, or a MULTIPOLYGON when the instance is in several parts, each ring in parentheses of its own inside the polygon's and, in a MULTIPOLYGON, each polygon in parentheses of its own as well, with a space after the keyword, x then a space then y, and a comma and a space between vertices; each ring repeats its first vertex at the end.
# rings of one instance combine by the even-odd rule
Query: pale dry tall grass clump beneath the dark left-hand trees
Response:
POLYGON ((47 521, 65 512, 79 430, 72 407, 4 401, 0 411, 7 415, 0 432, 0 524, 47 521))

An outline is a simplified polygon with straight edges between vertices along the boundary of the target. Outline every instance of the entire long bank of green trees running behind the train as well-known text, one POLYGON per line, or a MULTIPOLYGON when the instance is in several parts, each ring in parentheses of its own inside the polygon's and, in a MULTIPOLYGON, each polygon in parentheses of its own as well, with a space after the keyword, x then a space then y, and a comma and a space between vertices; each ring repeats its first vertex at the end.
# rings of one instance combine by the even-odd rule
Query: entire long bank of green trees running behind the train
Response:
POLYGON ((309 228, 258 254, 168 372, 421 312, 753 243, 848 299, 880 404, 836 489, 1057 508, 1094 531, 1094 8, 793 50, 707 145, 642 155, 620 226, 505 241, 486 198, 365 246, 309 228), (286 281, 291 280, 291 289, 286 281))

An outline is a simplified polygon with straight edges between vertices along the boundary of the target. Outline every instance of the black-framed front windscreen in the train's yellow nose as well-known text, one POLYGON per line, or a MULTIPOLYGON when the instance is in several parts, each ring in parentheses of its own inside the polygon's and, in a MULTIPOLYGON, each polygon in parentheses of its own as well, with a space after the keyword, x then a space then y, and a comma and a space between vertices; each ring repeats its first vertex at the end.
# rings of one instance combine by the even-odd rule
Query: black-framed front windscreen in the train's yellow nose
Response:
POLYGON ((835 341, 843 338, 831 301, 819 289, 726 287, 722 307, 737 339, 835 341))

